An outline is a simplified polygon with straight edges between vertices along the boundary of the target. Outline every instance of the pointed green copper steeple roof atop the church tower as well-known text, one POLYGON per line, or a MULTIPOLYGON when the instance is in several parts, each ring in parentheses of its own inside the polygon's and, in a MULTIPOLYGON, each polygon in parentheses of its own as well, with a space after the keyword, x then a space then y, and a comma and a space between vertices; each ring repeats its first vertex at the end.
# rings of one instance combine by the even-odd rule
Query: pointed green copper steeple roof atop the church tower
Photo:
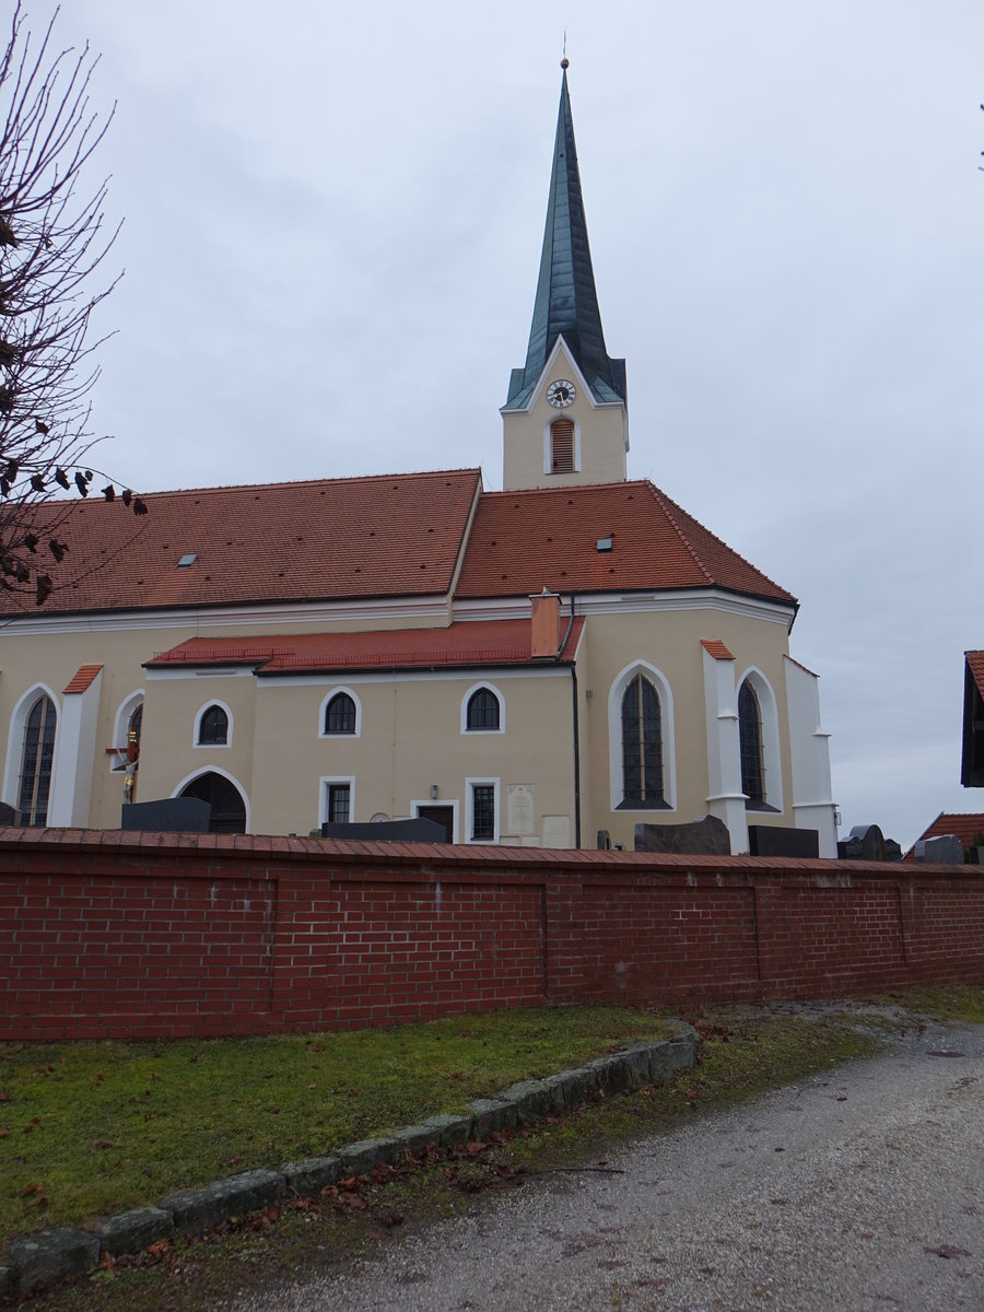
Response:
POLYGON ((611 359, 605 349, 598 295, 588 245, 581 177, 573 139, 571 98, 567 92, 567 59, 563 60, 560 109, 550 174, 547 226, 539 261, 537 299, 533 306, 526 365, 514 369, 504 409, 522 409, 530 400, 558 337, 584 374, 596 401, 626 401, 626 362, 611 359))

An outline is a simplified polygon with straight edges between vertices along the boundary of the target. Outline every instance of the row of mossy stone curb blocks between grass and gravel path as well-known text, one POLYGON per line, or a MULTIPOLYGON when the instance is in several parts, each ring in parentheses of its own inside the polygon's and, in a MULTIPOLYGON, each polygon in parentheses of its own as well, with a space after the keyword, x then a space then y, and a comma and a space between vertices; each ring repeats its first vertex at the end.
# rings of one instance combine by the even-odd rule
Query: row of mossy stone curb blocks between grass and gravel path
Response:
POLYGON ((98 1266, 101 1252, 114 1257, 140 1252, 159 1239, 171 1239, 176 1231, 195 1235, 209 1225, 260 1211, 287 1190, 315 1195, 344 1173, 365 1176, 375 1166, 398 1165, 407 1152, 421 1153, 432 1143, 451 1148, 468 1143, 472 1135, 485 1139, 497 1130, 560 1115, 583 1106, 600 1092, 617 1093, 670 1078, 677 1071, 693 1067, 701 1042, 691 1025, 672 1023, 674 1039, 635 1043, 546 1080, 520 1080, 495 1098, 476 1098, 466 1115, 429 1117, 391 1138, 344 1144, 331 1156, 285 1162, 278 1172, 247 1170, 203 1189, 174 1194, 157 1207, 98 1218, 89 1232, 56 1227, 13 1240, 0 1252, 0 1299, 26 1294, 39 1282, 52 1284, 92 1271, 98 1266))

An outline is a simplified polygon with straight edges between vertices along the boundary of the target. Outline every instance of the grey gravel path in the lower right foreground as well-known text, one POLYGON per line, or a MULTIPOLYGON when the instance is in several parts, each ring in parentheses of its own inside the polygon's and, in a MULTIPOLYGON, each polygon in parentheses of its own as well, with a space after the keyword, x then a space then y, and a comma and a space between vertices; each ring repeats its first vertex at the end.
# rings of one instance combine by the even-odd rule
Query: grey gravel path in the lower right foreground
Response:
POLYGON ((980 1312, 983 1110, 984 1026, 930 1029, 237 1312, 980 1312))

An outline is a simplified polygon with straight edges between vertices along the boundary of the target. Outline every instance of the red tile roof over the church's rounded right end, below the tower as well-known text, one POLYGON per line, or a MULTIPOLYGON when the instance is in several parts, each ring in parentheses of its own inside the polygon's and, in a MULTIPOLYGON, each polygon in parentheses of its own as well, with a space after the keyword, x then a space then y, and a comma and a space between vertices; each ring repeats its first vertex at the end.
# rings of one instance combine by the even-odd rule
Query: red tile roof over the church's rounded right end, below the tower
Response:
POLYGON ((649 482, 485 493, 459 597, 723 588, 795 598, 649 482), (598 538, 613 538, 598 551, 598 538))

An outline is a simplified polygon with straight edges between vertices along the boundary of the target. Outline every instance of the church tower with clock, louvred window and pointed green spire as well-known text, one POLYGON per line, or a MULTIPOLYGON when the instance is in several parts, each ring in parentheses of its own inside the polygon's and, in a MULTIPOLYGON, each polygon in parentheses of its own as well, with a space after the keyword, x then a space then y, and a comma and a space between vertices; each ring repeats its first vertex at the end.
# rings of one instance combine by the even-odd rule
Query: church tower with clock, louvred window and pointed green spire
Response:
POLYGON ((547 224, 526 363, 502 416, 502 489, 626 478, 626 362, 605 348, 567 92, 560 84, 547 224))

